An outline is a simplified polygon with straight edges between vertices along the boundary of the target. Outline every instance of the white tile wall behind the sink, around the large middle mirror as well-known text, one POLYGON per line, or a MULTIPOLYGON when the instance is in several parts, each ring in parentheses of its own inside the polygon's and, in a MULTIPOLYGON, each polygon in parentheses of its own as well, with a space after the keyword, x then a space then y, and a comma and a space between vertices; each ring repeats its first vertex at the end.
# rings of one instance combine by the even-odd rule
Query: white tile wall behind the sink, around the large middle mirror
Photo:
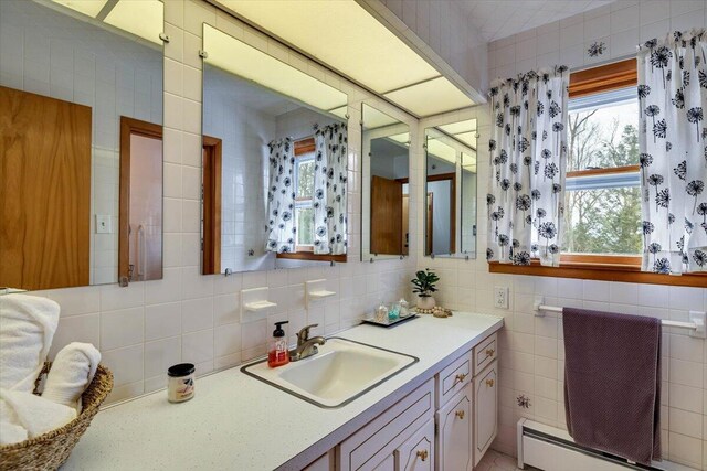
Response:
MULTIPOLYGON (((165 67, 170 72, 165 76, 163 279, 133 283, 128 288, 106 285, 38 292, 62 304, 52 354, 72 341, 98 346, 104 363, 115 374, 115 389, 109 400, 165 387, 166 367, 180 361, 196 363, 198 373, 205 374, 263 354, 274 321, 289 320, 291 340, 306 323, 318 322, 318 331, 325 333, 357 324, 377 303, 410 296, 408 278, 415 267, 414 257, 402 261, 360 263, 360 225, 357 223, 360 214, 354 212, 349 214, 355 223, 350 227, 351 250, 346 264, 230 277, 200 275, 199 251, 193 242, 199 237, 199 213, 194 211, 194 204, 198 203, 201 178, 201 60, 198 55, 201 21, 250 41, 252 45, 274 51, 303 72, 324 78, 348 94, 351 201, 360 200, 361 136, 358 124, 361 100, 367 99, 411 127, 415 121, 299 54, 283 50, 278 43, 238 20, 217 13, 205 2, 167 0, 165 18, 165 29, 171 41, 165 51, 165 67), (189 19, 188 24, 184 24, 186 19, 189 19), (318 278, 326 278, 327 288, 337 296, 307 311, 304 282, 318 278), (267 321, 241 325, 240 290, 261 286, 271 288, 279 307, 267 321)), ((3 39, 4 32, 3 24, 3 39)), ((4 46, 4 41, 2 43, 4 46)))

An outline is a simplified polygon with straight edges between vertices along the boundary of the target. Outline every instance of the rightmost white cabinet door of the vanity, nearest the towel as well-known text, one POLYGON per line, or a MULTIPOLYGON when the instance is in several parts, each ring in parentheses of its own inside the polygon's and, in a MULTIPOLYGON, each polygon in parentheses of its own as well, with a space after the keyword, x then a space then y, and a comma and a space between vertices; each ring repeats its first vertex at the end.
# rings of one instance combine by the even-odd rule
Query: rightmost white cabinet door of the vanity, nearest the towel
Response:
POLYGON ((474 465, 496 438, 498 417, 498 362, 474 378, 474 465))

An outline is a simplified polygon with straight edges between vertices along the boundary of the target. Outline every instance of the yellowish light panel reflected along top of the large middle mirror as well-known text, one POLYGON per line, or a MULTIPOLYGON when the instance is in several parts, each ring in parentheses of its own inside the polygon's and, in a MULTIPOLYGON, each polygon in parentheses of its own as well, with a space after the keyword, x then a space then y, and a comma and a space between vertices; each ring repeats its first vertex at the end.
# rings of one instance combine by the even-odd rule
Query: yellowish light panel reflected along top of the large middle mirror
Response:
POLYGON ((346 115, 347 95, 208 24, 204 62, 326 111, 346 115))

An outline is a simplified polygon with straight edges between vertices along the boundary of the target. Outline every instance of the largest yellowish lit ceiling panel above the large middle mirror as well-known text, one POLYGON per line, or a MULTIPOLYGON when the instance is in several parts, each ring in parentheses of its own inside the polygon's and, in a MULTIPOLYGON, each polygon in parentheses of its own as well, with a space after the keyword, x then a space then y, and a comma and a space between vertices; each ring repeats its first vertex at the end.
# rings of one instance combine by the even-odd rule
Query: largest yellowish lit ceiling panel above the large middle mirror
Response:
POLYGON ((440 73, 354 0, 218 0, 377 93, 440 73))

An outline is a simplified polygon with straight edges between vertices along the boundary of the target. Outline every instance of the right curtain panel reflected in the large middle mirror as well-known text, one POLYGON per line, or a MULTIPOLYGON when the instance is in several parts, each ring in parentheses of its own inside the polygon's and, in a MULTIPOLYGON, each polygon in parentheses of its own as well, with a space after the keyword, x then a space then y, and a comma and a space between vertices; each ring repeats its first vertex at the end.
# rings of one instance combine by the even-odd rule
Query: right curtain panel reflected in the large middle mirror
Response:
POLYGON ((348 245, 348 152, 345 124, 317 128, 314 169, 314 253, 341 255, 348 245))

